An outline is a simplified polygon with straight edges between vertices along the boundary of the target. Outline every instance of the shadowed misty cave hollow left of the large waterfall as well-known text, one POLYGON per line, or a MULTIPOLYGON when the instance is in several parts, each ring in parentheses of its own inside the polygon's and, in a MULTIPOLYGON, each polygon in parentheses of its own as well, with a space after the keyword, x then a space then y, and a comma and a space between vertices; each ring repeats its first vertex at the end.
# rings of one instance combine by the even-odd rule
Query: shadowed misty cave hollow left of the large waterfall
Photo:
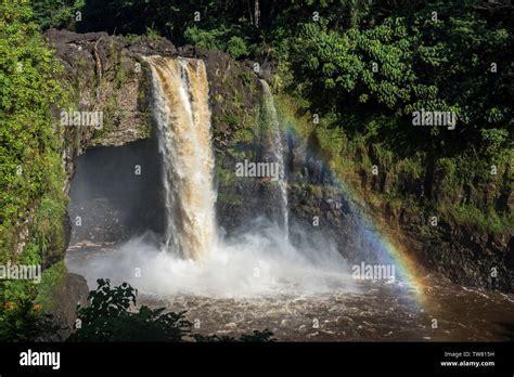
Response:
POLYGON ((164 232, 160 157, 156 141, 101 146, 77 158, 70 186, 72 246, 120 243, 164 232))

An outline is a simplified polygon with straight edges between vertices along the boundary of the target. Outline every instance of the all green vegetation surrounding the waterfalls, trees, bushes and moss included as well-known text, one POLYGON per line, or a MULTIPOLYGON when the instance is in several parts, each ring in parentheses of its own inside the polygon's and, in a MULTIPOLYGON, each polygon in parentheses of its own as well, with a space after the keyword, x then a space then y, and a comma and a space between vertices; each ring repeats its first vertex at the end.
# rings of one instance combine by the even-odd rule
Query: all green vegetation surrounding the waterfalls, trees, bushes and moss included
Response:
MULTIPOLYGON (((46 332, 47 318, 37 308, 51 304, 52 286, 65 274, 59 261, 66 246, 63 136, 52 126, 52 112, 74 107, 65 96, 78 103, 85 88, 100 93, 105 84, 74 77, 65 90, 56 80, 62 68, 41 30, 104 30, 142 43, 166 37, 176 46, 224 51, 265 68, 270 63, 269 82, 284 120, 349 186, 365 191, 361 196, 368 204, 504 233, 514 227, 507 203, 514 183, 513 14, 512 5, 485 0, 2 1, 0 263, 47 270, 40 286, 0 282, 0 338, 28 340, 46 332), (455 129, 413 127, 412 114, 422 109, 454 112, 455 129)), ((120 91, 131 70, 123 58, 116 63, 115 89, 120 91)), ((237 75, 211 98, 223 108, 213 119, 219 125, 214 136, 233 136, 228 157, 246 156, 259 142, 260 109, 250 108, 256 93, 244 87, 254 88, 248 83, 255 78, 237 75)), ((121 121, 117 107, 117 96, 110 95, 105 109, 116 117, 106 119, 95 138, 108 133, 110 121, 121 121)), ((217 172, 223 182, 230 179, 222 167, 217 172)), ((145 307, 132 312, 131 287, 111 288, 105 282, 102 287, 92 296, 94 306, 80 310, 83 327, 75 340, 179 340, 189 334, 181 313, 145 307), (116 300, 115 310, 102 301, 106 297, 116 300), (95 320, 99 313, 105 323, 95 320)), ((269 334, 255 337, 268 339, 269 334)))

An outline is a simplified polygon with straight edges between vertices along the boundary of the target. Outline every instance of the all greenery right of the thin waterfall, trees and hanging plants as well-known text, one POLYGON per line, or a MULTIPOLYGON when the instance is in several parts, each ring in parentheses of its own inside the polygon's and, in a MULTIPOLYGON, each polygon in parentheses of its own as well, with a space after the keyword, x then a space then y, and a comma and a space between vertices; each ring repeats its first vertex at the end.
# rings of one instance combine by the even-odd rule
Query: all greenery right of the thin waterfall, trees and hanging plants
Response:
POLYGON ((345 25, 320 11, 319 22, 284 29, 288 42, 277 39, 274 53, 279 89, 294 95, 288 113, 308 115, 300 132, 354 187, 376 165, 388 179, 372 194, 378 202, 411 198, 419 216, 507 232, 512 17, 480 1, 399 3, 386 15, 356 9, 345 25), (454 112, 457 129, 413 127, 421 109, 454 112))

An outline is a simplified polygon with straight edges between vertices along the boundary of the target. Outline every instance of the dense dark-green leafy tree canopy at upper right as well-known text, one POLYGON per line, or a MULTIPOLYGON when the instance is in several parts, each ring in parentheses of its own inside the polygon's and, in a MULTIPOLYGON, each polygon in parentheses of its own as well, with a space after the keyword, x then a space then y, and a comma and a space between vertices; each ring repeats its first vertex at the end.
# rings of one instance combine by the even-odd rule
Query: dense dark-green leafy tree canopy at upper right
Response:
MULTIPOLYGON (((398 126, 387 133, 410 140, 413 128, 400 125, 413 112, 454 112, 458 132, 421 132, 429 131, 437 145, 479 146, 479 129, 511 123, 513 36, 502 24, 489 25, 473 4, 436 2, 365 29, 304 23, 288 43, 295 84, 322 110, 396 117, 398 126), (494 70, 498 64, 501 72, 494 70)), ((427 136, 423 140, 433 147, 427 136)))

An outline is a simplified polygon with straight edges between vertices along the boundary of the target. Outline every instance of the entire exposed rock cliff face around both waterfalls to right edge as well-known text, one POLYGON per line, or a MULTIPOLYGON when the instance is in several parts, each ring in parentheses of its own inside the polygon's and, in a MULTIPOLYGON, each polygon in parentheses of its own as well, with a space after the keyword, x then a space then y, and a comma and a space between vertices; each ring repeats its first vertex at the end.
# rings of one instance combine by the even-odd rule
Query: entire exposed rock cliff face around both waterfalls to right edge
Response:
MULTIPOLYGON (((256 214, 274 216, 278 190, 273 182, 234 178, 236 162, 261 160, 269 153, 262 88, 250 62, 235 62, 224 53, 192 47, 177 49, 165 39, 53 29, 46 36, 65 66, 64 79, 76 109, 103 112, 102 129, 67 127, 64 130, 66 190, 77 156, 88 148, 153 139, 149 68, 141 55, 197 57, 205 61, 209 80, 218 222, 230 233, 256 214)), ((426 217, 409 207, 372 199, 378 197, 376 194, 387 193, 390 178, 382 176, 363 173, 351 183, 364 197, 361 205, 354 205, 352 198, 337 187, 331 172, 322 168, 322 157, 311 152, 317 148, 311 143, 311 140, 287 141, 294 242, 310 243, 316 250, 329 234, 349 260, 372 259, 373 246, 365 244, 360 233, 363 225, 359 218, 361 212, 368 212, 428 271, 440 272, 460 284, 514 290, 514 242, 509 234, 487 233, 445 219, 432 229, 426 217), (314 217, 321 226, 313 226, 314 217), (296 225, 307 229, 306 235, 295 233, 296 225), (491 277, 492 268, 497 269, 496 278, 491 277)), ((414 191, 420 184, 406 182, 414 191)))

